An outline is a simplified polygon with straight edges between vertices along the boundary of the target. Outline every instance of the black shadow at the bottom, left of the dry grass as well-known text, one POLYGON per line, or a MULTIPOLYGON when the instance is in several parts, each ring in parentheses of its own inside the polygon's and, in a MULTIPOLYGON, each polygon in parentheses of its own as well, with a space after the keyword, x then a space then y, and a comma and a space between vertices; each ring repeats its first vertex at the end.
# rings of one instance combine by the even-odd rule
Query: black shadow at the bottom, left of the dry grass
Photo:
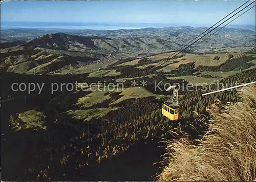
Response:
MULTIPOLYGON (((160 165, 164 148, 160 144, 145 141, 131 146, 124 152, 112 156, 108 160, 84 169, 81 180, 154 180, 154 175, 161 172, 160 165)), ((72 177, 70 178, 72 179, 72 177)))

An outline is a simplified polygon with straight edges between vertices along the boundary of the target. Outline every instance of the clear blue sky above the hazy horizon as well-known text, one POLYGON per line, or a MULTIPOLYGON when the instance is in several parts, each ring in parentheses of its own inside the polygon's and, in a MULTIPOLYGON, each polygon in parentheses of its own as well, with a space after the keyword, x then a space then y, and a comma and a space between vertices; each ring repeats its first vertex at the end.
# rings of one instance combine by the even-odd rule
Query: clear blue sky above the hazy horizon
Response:
MULTIPOLYGON (((245 1, 10 1, 1 22, 213 25, 245 1)), ((254 25, 255 8, 233 25, 254 25)))

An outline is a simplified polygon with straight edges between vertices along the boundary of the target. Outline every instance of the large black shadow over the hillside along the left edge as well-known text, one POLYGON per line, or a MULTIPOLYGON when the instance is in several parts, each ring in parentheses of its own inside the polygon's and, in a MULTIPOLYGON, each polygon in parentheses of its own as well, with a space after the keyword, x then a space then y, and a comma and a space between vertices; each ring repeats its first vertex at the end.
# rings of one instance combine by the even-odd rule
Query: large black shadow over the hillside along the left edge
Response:
MULTIPOLYGON (((42 110, 45 105, 54 97, 59 95, 60 90, 53 95, 51 94, 51 83, 69 83, 74 80, 84 80, 88 75, 60 75, 60 76, 45 76, 45 75, 24 75, 10 72, 1 73, 1 158, 2 158, 2 179, 3 180, 18 180, 21 169, 25 164, 23 161, 30 150, 35 148, 40 138, 39 135, 43 130, 34 131, 26 129, 14 132, 11 129, 9 117, 16 113, 24 112, 30 109, 42 110), (13 92, 11 89, 12 83, 45 83, 41 94, 38 95, 39 89, 28 94, 28 92, 13 92), (34 139, 33 137, 34 136, 34 139), (36 137, 37 136, 37 137, 36 137), (33 139, 33 141, 32 141, 33 139)), ((38 146, 37 146, 38 147, 38 146)))

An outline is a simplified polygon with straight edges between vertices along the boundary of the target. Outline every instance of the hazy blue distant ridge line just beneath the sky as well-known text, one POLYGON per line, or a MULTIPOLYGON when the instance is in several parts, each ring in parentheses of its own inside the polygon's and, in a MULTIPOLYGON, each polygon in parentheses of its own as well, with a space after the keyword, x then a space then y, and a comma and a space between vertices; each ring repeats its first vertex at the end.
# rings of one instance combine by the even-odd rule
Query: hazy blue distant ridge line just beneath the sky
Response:
MULTIPOLYGON (((255 26, 236 26, 231 25, 230 28, 224 28, 225 31, 238 31, 241 29, 247 29, 248 31, 255 31, 255 26)), ((1 42, 8 41, 16 41, 16 40, 29 40, 35 38, 37 36, 49 34, 49 33, 58 33, 63 32, 71 35, 82 35, 82 36, 99 36, 99 37, 109 37, 109 38, 117 38, 122 36, 130 36, 131 34, 134 36, 138 36, 141 33, 166 33, 165 31, 174 32, 177 30, 186 30, 186 31, 204 31, 207 27, 191 27, 191 26, 183 26, 183 27, 164 27, 164 28, 142 28, 142 29, 119 29, 119 30, 37 30, 37 29, 8 29, 1 30, 1 42)), ((201 32, 200 32, 201 33, 201 32)))

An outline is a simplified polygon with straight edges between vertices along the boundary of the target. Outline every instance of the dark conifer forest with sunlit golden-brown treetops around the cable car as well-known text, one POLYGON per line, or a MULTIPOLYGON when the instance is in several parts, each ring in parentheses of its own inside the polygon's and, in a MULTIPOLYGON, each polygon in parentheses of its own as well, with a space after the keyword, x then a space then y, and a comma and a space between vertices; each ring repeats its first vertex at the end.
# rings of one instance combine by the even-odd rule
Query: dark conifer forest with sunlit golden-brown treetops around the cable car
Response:
MULTIPOLYGON (((72 78, 69 77, 69 79, 72 78)), ((256 80, 256 70, 251 69, 227 77, 221 83, 230 85, 236 81, 244 83, 254 80, 256 80)), ((217 88, 217 85, 212 85, 212 87, 217 88)), ((184 97, 180 98, 181 127, 190 134, 191 138, 197 137, 195 130, 188 126, 189 123, 196 125, 193 122, 195 120, 193 111, 205 113, 208 117, 205 112, 206 107, 214 103, 215 99, 220 99, 222 102, 239 100, 236 90, 202 96, 202 93, 205 92, 199 89, 195 92, 185 93, 184 97)), ((30 125, 24 123, 25 125, 22 127, 27 113, 18 116, 15 116, 14 113, 11 115, 11 125, 17 128, 17 131, 6 135, 6 139, 10 141, 11 138, 15 141, 18 138, 20 142, 26 141, 26 143, 30 141, 30 145, 26 145, 26 148, 23 149, 23 155, 16 154, 16 157, 22 157, 25 160, 23 164, 26 164, 23 165, 22 171, 15 173, 16 177, 19 176, 24 180, 26 178, 69 180, 74 176, 79 176, 79 179, 87 179, 92 166, 111 160, 115 155, 119 156, 120 153, 128 151, 135 144, 157 141, 163 137, 168 138, 168 131, 176 127, 176 124, 172 125, 160 113, 161 103, 166 100, 165 98, 134 98, 111 104, 120 98, 118 94, 112 94, 110 99, 106 99, 101 104, 83 108, 116 108, 100 118, 84 120, 63 113, 70 109, 81 109, 77 108, 75 104, 76 98, 88 94, 90 92, 62 93, 58 96, 56 93, 55 99, 51 99, 53 96, 49 95, 48 97, 46 92, 45 99, 40 101, 36 95, 27 96, 27 107, 37 108, 40 113, 36 113, 36 117, 41 118, 40 120, 44 122, 30 125), (35 99, 39 102, 35 103, 35 99), (47 129, 44 129, 45 127, 47 129), (38 166, 38 164, 42 165, 38 166)), ((24 99, 13 100, 13 102, 16 102, 16 105, 24 105, 24 99)), ((7 108, 9 106, 3 103, 2 109, 7 108)), ((24 110, 29 110, 29 108, 24 108, 24 110)), ((20 112, 20 110, 16 112, 20 112)), ((8 113, 10 111, 6 113, 6 117, 8 117, 8 113)), ((31 113, 35 112, 31 111, 31 113)), ((205 129, 200 125, 196 125, 196 128, 198 132, 205 129)), ((7 149, 8 147, 3 152, 8 152, 7 149)), ((16 158, 16 160, 19 161, 21 158, 16 158)), ((3 162, 7 163, 8 157, 3 162)))

